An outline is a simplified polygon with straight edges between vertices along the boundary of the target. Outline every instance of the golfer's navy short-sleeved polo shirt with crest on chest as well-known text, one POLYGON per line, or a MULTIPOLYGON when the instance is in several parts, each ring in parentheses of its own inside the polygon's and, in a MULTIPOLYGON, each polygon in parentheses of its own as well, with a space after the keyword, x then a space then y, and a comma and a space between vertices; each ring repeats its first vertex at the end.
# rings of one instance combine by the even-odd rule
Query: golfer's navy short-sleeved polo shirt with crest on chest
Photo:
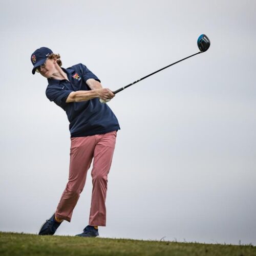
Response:
POLYGON ((119 130, 120 126, 116 116, 109 106, 100 103, 98 98, 66 103, 71 92, 90 91, 86 81, 93 78, 100 82, 98 77, 81 63, 68 69, 62 68, 62 70, 67 73, 69 81, 49 78, 46 96, 66 111, 70 122, 71 137, 90 136, 119 130))

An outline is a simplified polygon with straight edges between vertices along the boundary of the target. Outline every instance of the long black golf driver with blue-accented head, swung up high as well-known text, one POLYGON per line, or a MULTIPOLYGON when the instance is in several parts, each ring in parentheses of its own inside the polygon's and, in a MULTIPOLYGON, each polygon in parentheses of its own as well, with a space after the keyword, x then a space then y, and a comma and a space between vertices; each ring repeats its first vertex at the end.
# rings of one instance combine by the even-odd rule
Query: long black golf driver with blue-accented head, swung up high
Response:
MULTIPOLYGON (((170 65, 168 65, 168 66, 166 66, 166 67, 164 67, 164 68, 162 68, 162 69, 159 69, 159 70, 157 70, 157 71, 155 71, 155 72, 153 72, 153 73, 151 73, 151 74, 149 74, 149 75, 147 75, 147 76, 144 76, 144 77, 140 78, 139 80, 134 81, 134 82, 128 84, 127 86, 124 86, 124 87, 122 87, 122 88, 120 88, 120 89, 114 91, 113 93, 114 93, 114 94, 117 94, 117 93, 121 92, 122 90, 124 90, 124 89, 126 89, 126 88, 132 86, 133 84, 135 84, 135 83, 137 83, 137 82, 139 82, 139 81, 141 81, 141 80, 143 80, 143 79, 145 79, 145 78, 147 78, 147 77, 149 77, 149 76, 152 76, 152 75, 158 73, 159 71, 162 71, 162 70, 164 70, 164 69, 166 69, 166 68, 168 68, 168 67, 170 67, 170 66, 173 66, 173 65, 177 64, 178 62, 180 62, 180 61, 182 61, 182 60, 188 59, 188 58, 193 57, 193 56, 195 56, 195 55, 197 55, 197 54, 199 54, 199 53, 202 53, 202 52, 207 51, 207 50, 209 49, 209 47, 210 47, 210 40, 209 40, 209 38, 208 38, 205 34, 200 35, 200 36, 198 37, 198 40, 197 40, 197 46, 198 46, 200 52, 197 52, 197 53, 195 53, 195 54, 193 54, 193 55, 190 55, 190 56, 188 56, 188 57, 186 57, 186 58, 184 58, 184 59, 178 60, 178 61, 176 61, 176 62, 174 62, 174 63, 172 63, 172 64, 170 64, 170 65)), ((101 103, 106 103, 106 102, 108 102, 108 101, 110 101, 110 99, 108 99, 108 100, 100 99, 100 102, 101 102, 101 103)))

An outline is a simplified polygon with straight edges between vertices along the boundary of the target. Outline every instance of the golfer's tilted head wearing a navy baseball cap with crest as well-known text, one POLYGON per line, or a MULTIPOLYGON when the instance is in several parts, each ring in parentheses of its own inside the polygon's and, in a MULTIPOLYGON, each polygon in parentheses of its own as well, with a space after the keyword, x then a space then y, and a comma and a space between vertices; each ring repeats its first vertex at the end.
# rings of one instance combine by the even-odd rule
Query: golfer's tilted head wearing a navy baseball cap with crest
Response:
POLYGON ((46 47, 41 47, 31 55, 31 61, 34 65, 32 74, 40 73, 46 78, 51 78, 53 74, 59 72, 62 62, 60 55, 55 54, 46 47))

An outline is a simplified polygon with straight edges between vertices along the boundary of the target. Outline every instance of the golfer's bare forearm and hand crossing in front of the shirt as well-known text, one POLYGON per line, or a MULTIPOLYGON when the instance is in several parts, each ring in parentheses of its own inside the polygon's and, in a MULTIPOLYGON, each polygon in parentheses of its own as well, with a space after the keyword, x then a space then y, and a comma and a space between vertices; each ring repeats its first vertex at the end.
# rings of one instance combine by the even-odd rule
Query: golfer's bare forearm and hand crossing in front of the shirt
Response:
POLYGON ((115 94, 110 91, 109 89, 102 88, 96 89, 91 91, 76 91, 71 92, 66 100, 67 103, 69 102, 80 102, 80 101, 87 101, 94 98, 100 98, 103 100, 112 99, 115 97, 115 94))

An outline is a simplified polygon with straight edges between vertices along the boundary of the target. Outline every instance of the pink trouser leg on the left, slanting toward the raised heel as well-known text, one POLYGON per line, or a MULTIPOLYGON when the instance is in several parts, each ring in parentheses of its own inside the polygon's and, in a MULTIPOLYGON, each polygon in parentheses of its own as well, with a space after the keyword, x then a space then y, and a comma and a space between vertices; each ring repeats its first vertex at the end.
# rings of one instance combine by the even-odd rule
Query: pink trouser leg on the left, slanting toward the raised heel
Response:
POLYGON ((73 209, 86 183, 94 147, 94 136, 71 138, 69 181, 55 212, 58 219, 71 221, 73 209))

